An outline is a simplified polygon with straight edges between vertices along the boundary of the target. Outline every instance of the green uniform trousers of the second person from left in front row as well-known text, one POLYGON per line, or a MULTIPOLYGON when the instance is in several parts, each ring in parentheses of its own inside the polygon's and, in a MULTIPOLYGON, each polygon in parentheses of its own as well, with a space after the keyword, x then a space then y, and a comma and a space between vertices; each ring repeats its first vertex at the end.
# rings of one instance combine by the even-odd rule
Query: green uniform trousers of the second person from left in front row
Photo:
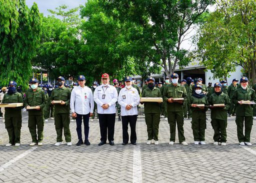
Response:
POLYGON ((32 137, 32 142, 42 142, 43 139, 43 115, 28 115, 28 129, 32 137), (37 134, 36 134, 37 128, 37 134))

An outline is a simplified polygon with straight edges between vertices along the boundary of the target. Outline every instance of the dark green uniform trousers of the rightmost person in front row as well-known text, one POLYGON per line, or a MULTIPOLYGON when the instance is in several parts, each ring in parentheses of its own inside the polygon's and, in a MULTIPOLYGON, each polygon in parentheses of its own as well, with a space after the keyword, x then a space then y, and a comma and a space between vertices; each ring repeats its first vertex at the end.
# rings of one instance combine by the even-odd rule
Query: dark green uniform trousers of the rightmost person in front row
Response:
POLYGON ((235 123, 237 126, 237 137, 239 142, 250 142, 250 131, 252 128, 252 116, 237 116, 235 117, 235 123), (244 135, 243 135, 243 121, 244 121, 244 135))

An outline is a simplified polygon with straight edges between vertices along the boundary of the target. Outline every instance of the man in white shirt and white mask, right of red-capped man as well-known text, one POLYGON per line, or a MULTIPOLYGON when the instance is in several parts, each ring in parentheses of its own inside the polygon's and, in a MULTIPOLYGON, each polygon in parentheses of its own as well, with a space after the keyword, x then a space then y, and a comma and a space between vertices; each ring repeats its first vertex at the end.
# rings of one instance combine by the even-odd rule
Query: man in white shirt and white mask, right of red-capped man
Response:
POLYGON ((118 96, 122 117, 122 145, 126 145, 129 140, 128 123, 130 124, 130 143, 136 145, 137 105, 140 97, 137 89, 131 86, 132 78, 127 76, 124 81, 125 87, 120 90, 118 96))

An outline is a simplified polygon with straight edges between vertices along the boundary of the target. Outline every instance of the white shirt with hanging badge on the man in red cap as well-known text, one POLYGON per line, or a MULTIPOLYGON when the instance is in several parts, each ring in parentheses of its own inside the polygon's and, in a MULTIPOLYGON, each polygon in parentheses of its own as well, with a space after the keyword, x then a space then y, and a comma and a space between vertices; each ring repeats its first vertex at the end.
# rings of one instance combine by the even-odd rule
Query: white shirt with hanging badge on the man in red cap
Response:
POLYGON ((97 112, 100 114, 115 113, 117 97, 117 90, 114 86, 110 84, 105 87, 102 84, 97 86, 93 93, 94 101, 97 103, 97 112), (108 104, 109 107, 103 109, 101 107, 103 104, 108 104))

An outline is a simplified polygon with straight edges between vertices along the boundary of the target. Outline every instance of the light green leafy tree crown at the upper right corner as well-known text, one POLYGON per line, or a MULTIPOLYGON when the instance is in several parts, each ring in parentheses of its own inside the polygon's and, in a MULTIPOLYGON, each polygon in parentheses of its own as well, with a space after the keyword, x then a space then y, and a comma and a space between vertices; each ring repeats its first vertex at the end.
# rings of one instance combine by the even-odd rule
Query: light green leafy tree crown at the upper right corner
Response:
POLYGON ((256 82, 256 1, 217 0, 216 10, 199 29, 198 57, 214 77, 223 78, 240 65, 256 82))

